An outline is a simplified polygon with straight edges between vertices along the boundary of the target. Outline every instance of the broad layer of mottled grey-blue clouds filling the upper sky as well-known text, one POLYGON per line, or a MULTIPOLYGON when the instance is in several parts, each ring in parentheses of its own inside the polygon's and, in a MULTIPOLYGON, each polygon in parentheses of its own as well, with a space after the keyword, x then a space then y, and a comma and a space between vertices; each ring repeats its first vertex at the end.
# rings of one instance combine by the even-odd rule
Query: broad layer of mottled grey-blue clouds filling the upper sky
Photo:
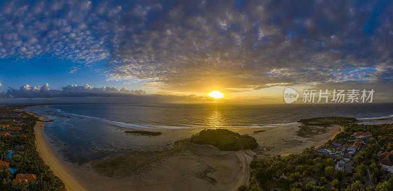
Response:
POLYGON ((50 55, 81 63, 74 70, 107 59, 109 80, 179 92, 392 80, 392 1, 1 5, 0 58, 50 55))

